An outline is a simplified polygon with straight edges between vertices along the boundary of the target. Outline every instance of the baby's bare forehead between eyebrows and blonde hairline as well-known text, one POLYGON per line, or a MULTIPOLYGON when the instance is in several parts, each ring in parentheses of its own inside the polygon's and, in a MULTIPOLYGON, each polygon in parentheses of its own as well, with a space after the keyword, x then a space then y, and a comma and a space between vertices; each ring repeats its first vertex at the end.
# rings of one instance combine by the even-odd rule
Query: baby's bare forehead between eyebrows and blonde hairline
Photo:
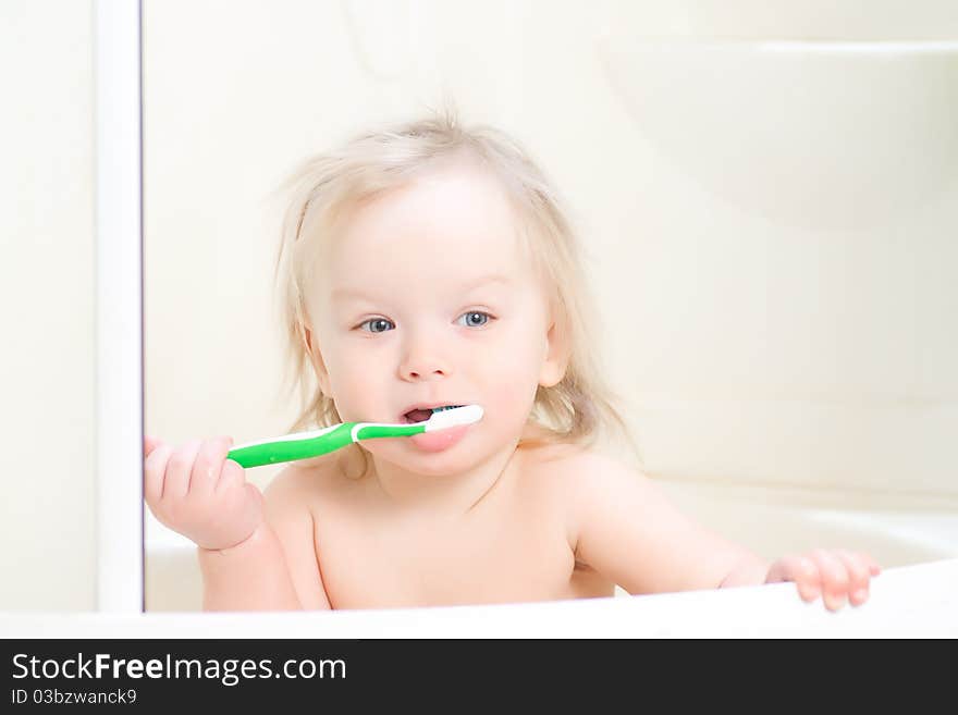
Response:
MULTIPOLYGON (((544 250, 505 182, 476 161, 437 164, 340 212, 327 233, 320 285, 449 284, 541 279, 544 250), (538 258, 537 258, 538 257, 538 258)), ((329 292, 327 293, 329 296, 329 292)))

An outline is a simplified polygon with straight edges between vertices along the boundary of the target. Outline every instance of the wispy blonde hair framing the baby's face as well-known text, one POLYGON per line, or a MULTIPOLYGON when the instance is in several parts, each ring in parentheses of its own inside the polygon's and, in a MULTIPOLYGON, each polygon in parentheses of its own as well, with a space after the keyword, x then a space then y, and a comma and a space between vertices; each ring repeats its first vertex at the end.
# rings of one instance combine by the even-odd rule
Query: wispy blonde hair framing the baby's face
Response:
MULTIPOLYGON (((292 189, 292 196, 283 218, 275 280, 292 367, 288 387, 292 392, 298 384, 300 396, 299 416, 291 431, 342 421, 332 398, 319 389, 306 337, 310 325, 304 286, 320 238, 328 239, 359 202, 457 159, 477 161, 500 180, 512 199, 525 229, 519 232, 525 247, 550 286, 556 330, 567 348, 564 377, 553 386, 539 385, 530 414, 544 436, 523 439, 519 446, 563 443, 586 447, 617 432, 641 463, 616 407, 621 398, 603 378, 595 352, 598 311, 581 268, 580 246, 555 189, 515 139, 490 126, 463 127, 450 112, 356 136, 339 149, 305 161, 281 187, 292 189)), ((318 349, 315 343, 312 349, 318 349)), ((365 451, 359 452, 365 458, 365 451)))

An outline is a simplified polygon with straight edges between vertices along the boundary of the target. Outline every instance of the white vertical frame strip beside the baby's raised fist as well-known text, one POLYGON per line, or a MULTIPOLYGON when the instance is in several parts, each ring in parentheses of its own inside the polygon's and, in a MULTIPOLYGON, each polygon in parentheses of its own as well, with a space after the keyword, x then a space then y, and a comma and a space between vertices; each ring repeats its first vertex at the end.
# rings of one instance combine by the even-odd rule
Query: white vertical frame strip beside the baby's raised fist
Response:
POLYGON ((143 611, 140 7, 96 0, 97 608, 143 611))

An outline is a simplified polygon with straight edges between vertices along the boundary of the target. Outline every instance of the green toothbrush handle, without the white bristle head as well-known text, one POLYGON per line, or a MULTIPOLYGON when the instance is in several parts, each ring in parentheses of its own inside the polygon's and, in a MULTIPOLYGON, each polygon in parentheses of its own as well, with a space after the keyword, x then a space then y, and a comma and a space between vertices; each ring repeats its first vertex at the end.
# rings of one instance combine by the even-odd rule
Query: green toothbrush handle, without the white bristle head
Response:
MULTIPOLYGON (((262 467, 263 465, 277 465, 295 459, 309 459, 320 455, 335 452, 353 443, 353 429, 356 430, 356 440, 373 440, 376 437, 410 436, 426 431, 423 424, 393 426, 376 424, 366 422, 343 422, 335 428, 329 428, 319 435, 304 436, 303 439, 280 437, 267 440, 255 444, 233 447, 226 455, 243 468, 262 467)), ((294 435, 295 436, 295 435, 294 435)))

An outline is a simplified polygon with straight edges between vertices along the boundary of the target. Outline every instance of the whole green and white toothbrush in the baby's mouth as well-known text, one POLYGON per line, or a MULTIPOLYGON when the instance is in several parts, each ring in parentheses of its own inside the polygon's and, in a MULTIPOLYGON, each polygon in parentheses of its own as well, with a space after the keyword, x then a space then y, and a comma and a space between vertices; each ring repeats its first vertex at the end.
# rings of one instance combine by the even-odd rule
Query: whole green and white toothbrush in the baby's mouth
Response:
POLYGON ((381 422, 341 422, 311 432, 297 432, 272 440, 247 442, 230 449, 228 459, 241 467, 261 467, 294 459, 308 459, 334 452, 359 440, 376 437, 413 436, 422 432, 435 432, 451 427, 472 424, 482 419, 479 405, 439 407, 423 422, 389 424, 381 422))

